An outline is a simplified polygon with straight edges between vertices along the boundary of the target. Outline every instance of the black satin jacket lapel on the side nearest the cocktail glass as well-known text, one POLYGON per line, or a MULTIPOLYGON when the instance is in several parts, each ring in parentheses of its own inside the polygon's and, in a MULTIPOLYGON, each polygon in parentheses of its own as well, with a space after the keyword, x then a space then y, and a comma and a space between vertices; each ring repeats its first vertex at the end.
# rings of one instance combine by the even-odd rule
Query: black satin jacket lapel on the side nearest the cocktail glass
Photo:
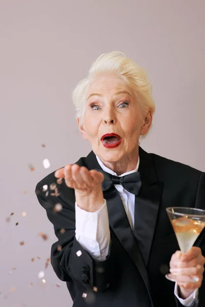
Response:
POLYGON ((134 235, 148 265, 163 184, 157 181, 151 156, 139 147, 141 190, 135 196, 134 235))

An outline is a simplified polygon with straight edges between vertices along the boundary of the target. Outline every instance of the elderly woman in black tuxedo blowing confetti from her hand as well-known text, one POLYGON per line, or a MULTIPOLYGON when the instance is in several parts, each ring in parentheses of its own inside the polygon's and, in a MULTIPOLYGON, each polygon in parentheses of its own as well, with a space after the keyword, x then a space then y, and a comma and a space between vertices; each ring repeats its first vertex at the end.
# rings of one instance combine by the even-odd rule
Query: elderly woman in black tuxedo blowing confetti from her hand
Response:
POLYGON ((182 255, 166 208, 203 209, 205 173, 139 146, 155 111, 146 72, 120 52, 103 54, 73 102, 92 151, 36 186, 58 238, 51 264, 73 306, 204 307, 205 232, 182 255))

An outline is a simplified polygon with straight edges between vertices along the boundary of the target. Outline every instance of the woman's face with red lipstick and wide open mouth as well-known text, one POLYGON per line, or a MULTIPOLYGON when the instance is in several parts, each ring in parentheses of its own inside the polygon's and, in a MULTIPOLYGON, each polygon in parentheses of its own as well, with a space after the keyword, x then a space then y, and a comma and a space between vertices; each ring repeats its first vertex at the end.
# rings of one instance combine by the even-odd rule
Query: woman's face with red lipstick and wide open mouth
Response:
POLYGON ((146 123, 127 83, 115 76, 100 76, 89 86, 82 122, 83 138, 102 161, 117 162, 138 149, 146 123))

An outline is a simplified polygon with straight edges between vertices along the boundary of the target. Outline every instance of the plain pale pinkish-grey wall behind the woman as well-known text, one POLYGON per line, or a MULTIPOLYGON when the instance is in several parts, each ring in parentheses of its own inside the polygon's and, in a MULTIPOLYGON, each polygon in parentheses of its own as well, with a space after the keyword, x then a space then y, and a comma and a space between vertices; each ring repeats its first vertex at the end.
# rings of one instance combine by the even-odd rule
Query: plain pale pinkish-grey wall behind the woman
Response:
POLYGON ((205 170, 204 11, 203 0, 0 1, 1 306, 72 306, 66 284, 44 269, 56 237, 34 189, 90 151, 71 95, 101 53, 122 51, 148 71, 156 114, 142 147, 205 170))

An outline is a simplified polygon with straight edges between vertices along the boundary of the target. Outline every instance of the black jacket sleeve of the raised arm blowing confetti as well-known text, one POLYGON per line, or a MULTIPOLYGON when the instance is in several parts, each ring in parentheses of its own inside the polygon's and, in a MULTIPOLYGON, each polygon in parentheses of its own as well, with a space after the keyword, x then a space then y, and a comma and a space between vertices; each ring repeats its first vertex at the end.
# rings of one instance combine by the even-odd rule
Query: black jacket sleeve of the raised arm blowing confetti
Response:
MULTIPOLYGON (((66 197, 61 193, 51 196, 43 191, 43 186, 49 184, 40 181, 36 185, 35 193, 39 204, 46 210, 49 221, 54 226, 58 238, 51 247, 51 265, 57 277, 63 281, 73 281, 76 286, 83 286, 97 292, 105 292, 110 283, 112 268, 112 243, 109 255, 105 261, 95 261, 89 253, 81 247, 75 238, 75 196, 74 190, 63 182, 60 190, 66 190, 66 197), (55 210, 60 203, 63 208, 55 210)), ((60 192, 59 190, 59 192, 60 192)))

